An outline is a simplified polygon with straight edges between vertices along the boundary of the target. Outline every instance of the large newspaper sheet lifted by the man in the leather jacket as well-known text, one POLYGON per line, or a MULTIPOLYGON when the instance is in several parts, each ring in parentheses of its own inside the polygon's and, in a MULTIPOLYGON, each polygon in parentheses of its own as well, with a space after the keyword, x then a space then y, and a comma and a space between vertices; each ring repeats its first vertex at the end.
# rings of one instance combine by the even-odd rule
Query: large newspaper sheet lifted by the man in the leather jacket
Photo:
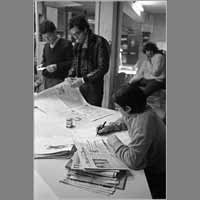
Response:
POLYGON ((71 88, 68 81, 38 93, 34 109, 47 116, 75 118, 78 123, 81 119, 96 121, 116 112, 88 104, 79 89, 71 88))

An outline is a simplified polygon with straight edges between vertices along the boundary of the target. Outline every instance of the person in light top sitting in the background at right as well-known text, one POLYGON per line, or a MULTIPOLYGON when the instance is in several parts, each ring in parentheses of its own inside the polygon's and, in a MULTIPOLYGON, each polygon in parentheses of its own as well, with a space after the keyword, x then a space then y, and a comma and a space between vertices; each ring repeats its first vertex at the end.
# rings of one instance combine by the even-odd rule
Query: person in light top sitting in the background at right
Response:
POLYGON ((146 55, 146 59, 129 83, 140 86, 148 97, 160 89, 165 89, 166 56, 152 42, 144 45, 143 53, 146 55))

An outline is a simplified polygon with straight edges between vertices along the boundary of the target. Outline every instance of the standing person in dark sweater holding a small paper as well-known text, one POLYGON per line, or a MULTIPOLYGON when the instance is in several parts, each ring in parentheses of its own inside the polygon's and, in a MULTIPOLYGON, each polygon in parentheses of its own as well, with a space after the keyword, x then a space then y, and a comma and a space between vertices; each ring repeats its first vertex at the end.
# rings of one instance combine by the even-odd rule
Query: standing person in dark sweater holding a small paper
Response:
POLYGON ((44 88, 47 89, 64 81, 72 65, 73 47, 70 41, 56 35, 56 26, 49 20, 40 24, 40 33, 46 40, 43 49, 42 71, 44 88))

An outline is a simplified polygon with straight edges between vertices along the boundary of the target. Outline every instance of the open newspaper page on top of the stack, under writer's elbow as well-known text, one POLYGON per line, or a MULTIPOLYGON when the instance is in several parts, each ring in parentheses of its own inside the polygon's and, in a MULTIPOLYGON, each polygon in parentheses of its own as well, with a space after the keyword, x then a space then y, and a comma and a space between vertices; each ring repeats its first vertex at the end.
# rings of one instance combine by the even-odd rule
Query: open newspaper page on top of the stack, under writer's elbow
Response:
POLYGON ((129 170, 103 139, 74 138, 81 165, 86 170, 129 170))

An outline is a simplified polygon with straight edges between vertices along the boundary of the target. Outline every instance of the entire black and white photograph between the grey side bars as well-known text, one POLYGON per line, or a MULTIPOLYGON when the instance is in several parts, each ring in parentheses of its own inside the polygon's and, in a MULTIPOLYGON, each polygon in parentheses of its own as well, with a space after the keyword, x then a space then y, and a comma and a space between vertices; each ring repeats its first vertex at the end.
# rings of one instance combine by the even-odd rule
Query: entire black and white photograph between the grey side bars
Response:
POLYGON ((167 199, 167 0, 32 6, 34 200, 167 199))

